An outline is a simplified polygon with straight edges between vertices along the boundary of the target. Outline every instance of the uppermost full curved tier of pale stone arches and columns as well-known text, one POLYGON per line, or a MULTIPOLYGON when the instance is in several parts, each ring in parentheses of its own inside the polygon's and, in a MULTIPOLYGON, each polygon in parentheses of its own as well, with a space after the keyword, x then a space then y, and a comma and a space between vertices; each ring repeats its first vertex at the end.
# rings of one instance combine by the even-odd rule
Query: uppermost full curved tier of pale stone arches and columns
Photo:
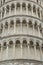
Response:
POLYGON ((43 21, 43 7, 30 0, 12 0, 0 6, 0 20, 15 15, 32 16, 43 21))

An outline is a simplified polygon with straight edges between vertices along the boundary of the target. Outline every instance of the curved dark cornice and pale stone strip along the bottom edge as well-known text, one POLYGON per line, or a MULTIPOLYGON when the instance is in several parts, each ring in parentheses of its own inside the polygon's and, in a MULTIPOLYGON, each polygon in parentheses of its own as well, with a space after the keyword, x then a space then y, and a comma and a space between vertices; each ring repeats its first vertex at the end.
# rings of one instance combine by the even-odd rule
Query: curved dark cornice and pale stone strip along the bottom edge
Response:
POLYGON ((31 59, 10 59, 1 61, 0 65, 43 65, 43 62, 31 59))

